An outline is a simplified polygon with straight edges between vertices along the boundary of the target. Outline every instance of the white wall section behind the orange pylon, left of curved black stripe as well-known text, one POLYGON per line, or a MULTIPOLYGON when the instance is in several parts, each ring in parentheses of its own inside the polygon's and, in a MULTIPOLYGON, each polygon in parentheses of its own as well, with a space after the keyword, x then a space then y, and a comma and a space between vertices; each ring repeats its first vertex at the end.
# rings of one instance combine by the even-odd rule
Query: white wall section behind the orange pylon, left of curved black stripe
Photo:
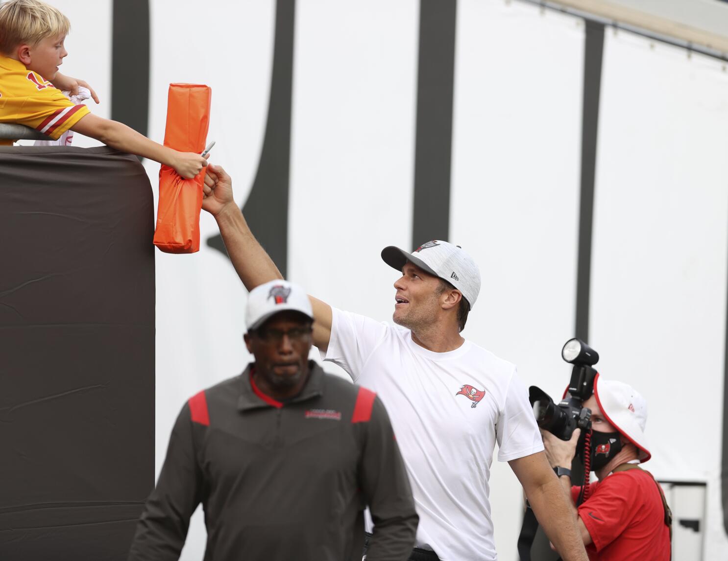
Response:
MULTIPOLYGON (((171 82, 213 89, 211 161, 234 178, 242 205, 255 177, 266 124, 273 60, 274 0, 154 0, 151 2, 149 136, 162 142, 171 82), (199 30, 194 39, 189 30, 199 30), (185 38, 180 41, 180 37, 185 38)), ((159 165, 146 162, 155 187, 159 165)), ((194 255, 157 251, 157 474, 170 431, 186 399, 242 371, 248 351, 245 288, 229 261, 205 245, 217 232, 200 219, 202 247, 194 255)), ((202 509, 197 509, 181 559, 202 559, 202 509)))

